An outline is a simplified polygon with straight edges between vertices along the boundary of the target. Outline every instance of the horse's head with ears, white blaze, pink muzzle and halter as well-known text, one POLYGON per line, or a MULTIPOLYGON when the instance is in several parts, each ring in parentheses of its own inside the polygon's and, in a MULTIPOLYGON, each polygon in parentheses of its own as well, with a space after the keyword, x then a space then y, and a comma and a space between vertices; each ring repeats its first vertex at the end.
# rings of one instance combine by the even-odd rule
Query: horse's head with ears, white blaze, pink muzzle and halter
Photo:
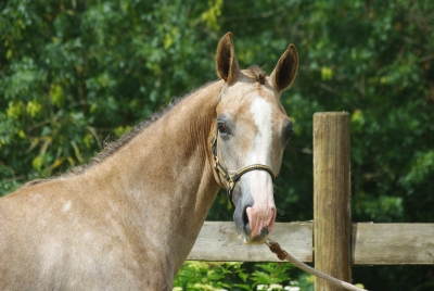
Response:
POLYGON ((263 243, 275 224, 273 180, 293 134, 280 96, 291 86, 297 67, 293 45, 270 76, 257 66, 240 69, 231 33, 217 47, 216 69, 225 83, 212 139, 214 176, 228 191, 245 243, 263 243))

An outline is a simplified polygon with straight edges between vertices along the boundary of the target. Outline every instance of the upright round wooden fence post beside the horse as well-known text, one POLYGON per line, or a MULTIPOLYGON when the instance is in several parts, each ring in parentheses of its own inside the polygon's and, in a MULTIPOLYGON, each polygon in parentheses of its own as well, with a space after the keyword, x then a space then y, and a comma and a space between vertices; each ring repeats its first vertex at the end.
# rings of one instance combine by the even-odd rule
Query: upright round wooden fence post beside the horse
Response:
MULTIPOLYGON (((314 114, 315 268, 352 281, 349 114, 314 114)), ((344 290, 315 279, 316 291, 344 290)))

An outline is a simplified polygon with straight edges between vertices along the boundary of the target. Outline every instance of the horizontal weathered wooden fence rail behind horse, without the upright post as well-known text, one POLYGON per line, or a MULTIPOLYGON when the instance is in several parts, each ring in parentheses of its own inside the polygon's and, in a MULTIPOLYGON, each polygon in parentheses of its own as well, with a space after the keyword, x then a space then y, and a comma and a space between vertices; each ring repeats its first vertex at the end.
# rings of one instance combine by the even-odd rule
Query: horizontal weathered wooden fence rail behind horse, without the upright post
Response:
MULTIPOLYGON (((314 262, 312 223, 277 223, 270 238, 314 262)), ((353 224, 352 265, 433 265, 434 224, 353 224)), ((205 222, 187 260, 281 262, 267 245, 245 245, 233 222, 205 222)))

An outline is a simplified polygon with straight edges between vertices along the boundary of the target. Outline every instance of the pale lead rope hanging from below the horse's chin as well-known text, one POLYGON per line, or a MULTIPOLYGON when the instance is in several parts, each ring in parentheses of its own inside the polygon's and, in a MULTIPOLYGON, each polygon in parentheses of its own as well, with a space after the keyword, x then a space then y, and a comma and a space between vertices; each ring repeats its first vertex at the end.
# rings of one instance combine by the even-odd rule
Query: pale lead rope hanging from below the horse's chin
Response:
POLYGON ((293 257, 292 255, 290 255, 289 253, 286 253, 286 251, 282 250, 282 248, 280 248, 279 243, 267 239, 267 241, 265 242, 268 248, 270 248, 270 251, 273 252, 280 260, 284 261, 286 260, 288 262, 290 262, 291 264, 293 264, 294 266, 303 269, 304 271, 307 271, 318 278, 324 279, 331 283, 334 283, 336 286, 343 287, 346 290, 354 290, 354 291, 368 291, 366 289, 361 289, 359 287, 356 287, 354 284, 350 284, 348 282, 339 280, 330 275, 323 274, 319 270, 316 270, 315 268, 306 265, 305 263, 299 262, 298 260, 296 260, 295 257, 293 257))

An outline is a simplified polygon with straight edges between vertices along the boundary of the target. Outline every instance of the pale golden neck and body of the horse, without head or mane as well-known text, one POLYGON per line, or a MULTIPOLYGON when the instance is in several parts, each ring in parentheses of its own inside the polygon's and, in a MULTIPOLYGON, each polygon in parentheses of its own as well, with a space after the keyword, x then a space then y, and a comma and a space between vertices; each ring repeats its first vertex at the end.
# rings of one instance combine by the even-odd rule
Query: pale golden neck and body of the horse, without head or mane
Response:
POLYGON ((43 281, 48 287, 56 277, 67 278, 64 287, 84 287, 88 280, 89 286, 101 283, 100 290, 107 282, 169 289, 218 190, 212 156, 205 150, 215 118, 213 99, 218 98, 218 90, 215 97, 209 90, 181 101, 116 154, 82 174, 42 181, 4 197, 0 204, 0 282, 10 271, 17 270, 14 276, 20 276, 23 263, 33 263, 25 268, 33 269, 35 277, 15 277, 10 283, 16 287, 11 289, 25 290, 17 286, 43 281), (193 118, 197 114, 200 118, 193 118), (189 144, 186 136, 193 138, 189 144))

